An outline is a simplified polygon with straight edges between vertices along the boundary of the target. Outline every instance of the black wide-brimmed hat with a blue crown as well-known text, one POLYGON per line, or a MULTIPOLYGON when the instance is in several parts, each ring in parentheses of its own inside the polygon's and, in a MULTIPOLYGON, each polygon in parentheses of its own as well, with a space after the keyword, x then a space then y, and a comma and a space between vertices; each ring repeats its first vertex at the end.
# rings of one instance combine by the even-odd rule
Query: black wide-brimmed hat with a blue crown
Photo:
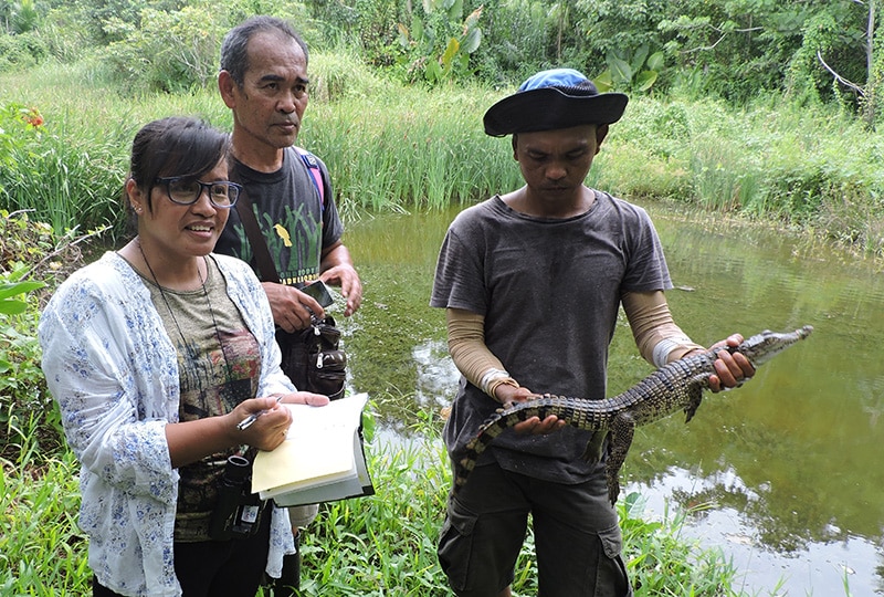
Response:
POLYGON ((516 93, 490 107, 483 121, 492 137, 611 124, 623 115, 627 102, 622 93, 599 93, 573 69, 554 69, 528 78, 516 93))

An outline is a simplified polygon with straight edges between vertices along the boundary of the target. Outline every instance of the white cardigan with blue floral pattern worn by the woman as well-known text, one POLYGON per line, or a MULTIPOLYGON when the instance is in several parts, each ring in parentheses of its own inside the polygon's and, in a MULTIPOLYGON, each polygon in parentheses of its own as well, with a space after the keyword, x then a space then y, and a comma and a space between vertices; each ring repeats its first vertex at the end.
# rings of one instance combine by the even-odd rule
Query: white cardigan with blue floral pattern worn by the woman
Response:
MULTIPOLYGON (((266 295, 242 261, 212 255, 261 350, 259 396, 292 391, 266 295)), ((42 367, 82 464, 80 527, 107 588, 178 596, 172 554, 178 471, 165 427, 178 420, 178 360, 150 291, 118 254, 75 272, 40 320, 42 367)), ((288 513, 273 509, 267 574, 294 553, 288 513)))

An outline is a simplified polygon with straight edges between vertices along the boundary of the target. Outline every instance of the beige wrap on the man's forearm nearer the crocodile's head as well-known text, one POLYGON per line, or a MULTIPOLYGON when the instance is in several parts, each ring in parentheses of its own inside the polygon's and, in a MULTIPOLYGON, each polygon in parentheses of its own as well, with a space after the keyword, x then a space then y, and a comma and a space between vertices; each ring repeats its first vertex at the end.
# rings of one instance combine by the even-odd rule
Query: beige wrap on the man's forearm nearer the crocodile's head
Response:
POLYGON ((693 350, 705 350, 675 325, 662 291, 627 292, 621 301, 639 353, 652 365, 662 367, 693 350))

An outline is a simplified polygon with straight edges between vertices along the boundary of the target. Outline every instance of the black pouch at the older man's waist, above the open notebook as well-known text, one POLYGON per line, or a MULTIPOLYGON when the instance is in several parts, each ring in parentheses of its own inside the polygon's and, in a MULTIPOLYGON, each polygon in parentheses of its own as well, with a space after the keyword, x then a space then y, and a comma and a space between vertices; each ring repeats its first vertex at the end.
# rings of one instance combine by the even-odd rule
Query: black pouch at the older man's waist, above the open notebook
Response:
POLYGON ((344 396, 347 378, 347 355, 339 347, 340 329, 330 315, 306 329, 290 334, 276 331, 276 342, 283 353, 282 369, 298 390, 313 391, 336 400, 344 396))

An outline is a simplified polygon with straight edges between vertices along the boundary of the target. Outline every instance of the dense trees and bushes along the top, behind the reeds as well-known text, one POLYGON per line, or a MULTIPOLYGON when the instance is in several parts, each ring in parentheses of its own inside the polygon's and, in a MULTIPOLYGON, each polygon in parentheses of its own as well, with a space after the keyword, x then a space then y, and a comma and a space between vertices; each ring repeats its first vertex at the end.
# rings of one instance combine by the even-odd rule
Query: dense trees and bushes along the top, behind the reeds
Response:
POLYGON ((400 81, 509 84, 568 65, 621 91, 843 101, 874 123, 880 11, 880 0, 3 0, 0 71, 91 57, 124 90, 203 86, 223 32, 263 12, 400 81), (645 56, 656 57, 643 67, 645 56))

